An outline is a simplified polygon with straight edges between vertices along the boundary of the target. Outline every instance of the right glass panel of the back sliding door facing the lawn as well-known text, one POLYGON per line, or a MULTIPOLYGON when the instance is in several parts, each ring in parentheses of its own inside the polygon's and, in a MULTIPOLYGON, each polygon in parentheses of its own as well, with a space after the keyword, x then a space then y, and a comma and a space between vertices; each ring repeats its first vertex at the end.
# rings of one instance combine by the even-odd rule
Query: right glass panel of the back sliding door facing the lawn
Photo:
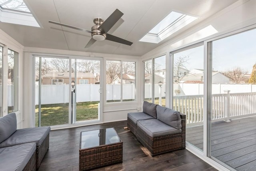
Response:
MULTIPOLYGON (((100 60, 72 59, 75 72, 74 120, 76 123, 100 119, 100 60)), ((71 92, 72 93, 72 92, 71 92)))

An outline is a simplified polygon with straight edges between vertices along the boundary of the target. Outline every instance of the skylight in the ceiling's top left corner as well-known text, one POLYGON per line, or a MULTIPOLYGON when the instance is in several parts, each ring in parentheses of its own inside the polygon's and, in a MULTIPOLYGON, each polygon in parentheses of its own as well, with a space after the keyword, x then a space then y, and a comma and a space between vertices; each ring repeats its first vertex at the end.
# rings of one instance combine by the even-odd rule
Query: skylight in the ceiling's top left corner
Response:
POLYGON ((23 0, 0 0, 0 21, 40 27, 23 0))

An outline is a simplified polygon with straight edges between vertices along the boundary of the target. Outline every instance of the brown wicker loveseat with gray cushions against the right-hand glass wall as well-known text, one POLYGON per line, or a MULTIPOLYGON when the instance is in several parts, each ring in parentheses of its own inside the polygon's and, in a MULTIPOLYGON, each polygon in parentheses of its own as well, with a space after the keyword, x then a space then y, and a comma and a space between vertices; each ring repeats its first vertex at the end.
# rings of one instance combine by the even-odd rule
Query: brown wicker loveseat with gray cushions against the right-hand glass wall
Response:
POLYGON ((186 115, 172 109, 143 102, 143 112, 128 113, 128 129, 152 156, 185 149, 186 115))

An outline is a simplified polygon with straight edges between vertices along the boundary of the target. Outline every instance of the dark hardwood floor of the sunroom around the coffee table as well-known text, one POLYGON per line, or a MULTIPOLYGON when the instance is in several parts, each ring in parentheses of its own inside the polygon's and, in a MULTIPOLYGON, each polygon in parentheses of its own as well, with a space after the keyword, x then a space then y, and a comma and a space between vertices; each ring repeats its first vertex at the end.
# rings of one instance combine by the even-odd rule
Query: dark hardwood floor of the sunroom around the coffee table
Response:
POLYGON ((98 171, 217 171, 186 149, 151 157, 126 126, 127 121, 118 121, 51 131, 50 147, 39 171, 78 171, 80 132, 107 127, 114 127, 123 141, 123 163, 98 171))

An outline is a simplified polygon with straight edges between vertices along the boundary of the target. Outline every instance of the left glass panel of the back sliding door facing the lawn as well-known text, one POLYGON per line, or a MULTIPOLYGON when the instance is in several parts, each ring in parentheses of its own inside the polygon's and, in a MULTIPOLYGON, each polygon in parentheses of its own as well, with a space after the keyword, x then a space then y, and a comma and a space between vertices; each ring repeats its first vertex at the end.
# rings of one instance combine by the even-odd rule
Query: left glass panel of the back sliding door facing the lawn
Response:
POLYGON ((36 57, 35 126, 68 124, 69 60, 36 57))

